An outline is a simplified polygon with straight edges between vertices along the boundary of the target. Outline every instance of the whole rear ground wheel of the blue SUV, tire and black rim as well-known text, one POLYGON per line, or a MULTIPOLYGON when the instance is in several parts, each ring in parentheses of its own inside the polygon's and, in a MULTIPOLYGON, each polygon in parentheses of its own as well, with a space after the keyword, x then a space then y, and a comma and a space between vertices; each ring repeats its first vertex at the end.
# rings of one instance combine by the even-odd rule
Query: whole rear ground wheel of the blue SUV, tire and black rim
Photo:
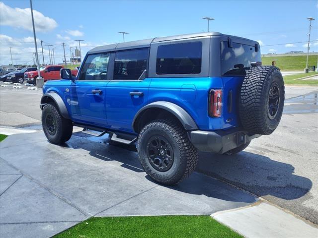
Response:
POLYGON ((172 185, 187 178, 198 163, 198 152, 178 121, 161 119, 139 134, 137 149, 146 173, 156 182, 172 185))

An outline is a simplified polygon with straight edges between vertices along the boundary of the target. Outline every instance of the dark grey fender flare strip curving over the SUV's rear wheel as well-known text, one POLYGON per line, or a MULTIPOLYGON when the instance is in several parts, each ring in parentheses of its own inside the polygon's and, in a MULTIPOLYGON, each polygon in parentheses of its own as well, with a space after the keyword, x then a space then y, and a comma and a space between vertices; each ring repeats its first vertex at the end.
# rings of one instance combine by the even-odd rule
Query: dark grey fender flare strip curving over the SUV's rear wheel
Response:
POLYGON ((158 102, 153 102, 150 103, 144 107, 142 107, 137 114, 135 115, 133 122, 132 122, 132 127, 135 128, 135 122, 138 119, 138 117, 141 115, 142 112, 144 112, 147 109, 150 108, 159 108, 168 111, 169 113, 173 114, 181 124, 183 125, 184 129, 186 130, 197 130, 198 126, 195 123, 195 121, 192 119, 192 117, 180 106, 170 103, 170 102, 165 102, 165 101, 158 101, 158 102))

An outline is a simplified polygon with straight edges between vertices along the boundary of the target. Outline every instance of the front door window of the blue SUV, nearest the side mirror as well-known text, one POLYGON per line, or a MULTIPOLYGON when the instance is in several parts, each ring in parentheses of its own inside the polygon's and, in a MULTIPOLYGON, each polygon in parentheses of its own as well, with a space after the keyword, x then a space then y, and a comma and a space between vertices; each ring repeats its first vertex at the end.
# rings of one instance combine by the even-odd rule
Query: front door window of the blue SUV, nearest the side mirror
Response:
POLYGON ((109 53, 89 55, 79 73, 79 80, 106 80, 109 53))

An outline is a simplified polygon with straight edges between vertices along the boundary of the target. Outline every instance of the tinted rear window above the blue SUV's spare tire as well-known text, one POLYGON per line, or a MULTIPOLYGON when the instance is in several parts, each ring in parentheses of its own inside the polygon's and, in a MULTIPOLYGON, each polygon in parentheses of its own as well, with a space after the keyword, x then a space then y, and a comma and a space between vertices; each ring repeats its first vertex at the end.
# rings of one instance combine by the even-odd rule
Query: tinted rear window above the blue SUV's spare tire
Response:
POLYGON ((254 46, 221 41, 221 73, 225 76, 245 75, 245 69, 250 68, 251 62, 261 62, 260 51, 255 52, 254 46))

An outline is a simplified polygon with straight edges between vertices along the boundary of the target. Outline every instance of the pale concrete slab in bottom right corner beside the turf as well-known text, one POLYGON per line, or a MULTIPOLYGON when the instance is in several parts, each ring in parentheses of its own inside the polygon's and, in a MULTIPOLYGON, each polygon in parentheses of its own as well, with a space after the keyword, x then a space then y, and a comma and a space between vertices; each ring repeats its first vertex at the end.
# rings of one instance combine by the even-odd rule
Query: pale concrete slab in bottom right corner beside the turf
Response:
POLYGON ((317 238, 318 228, 266 202, 211 215, 246 238, 317 238))

